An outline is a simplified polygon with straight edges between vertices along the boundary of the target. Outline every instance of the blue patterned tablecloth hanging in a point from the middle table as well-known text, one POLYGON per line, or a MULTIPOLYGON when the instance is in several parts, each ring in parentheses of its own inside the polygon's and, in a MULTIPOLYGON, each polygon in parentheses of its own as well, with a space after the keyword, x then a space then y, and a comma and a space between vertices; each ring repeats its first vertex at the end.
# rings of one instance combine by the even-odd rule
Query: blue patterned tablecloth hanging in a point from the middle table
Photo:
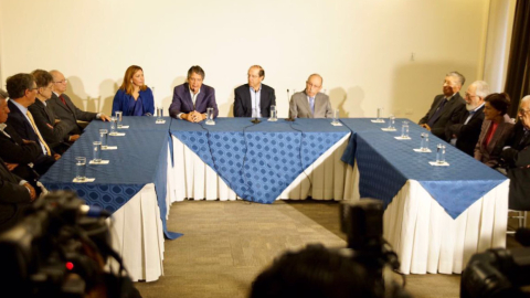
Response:
MULTIPOLYGON (((171 134, 242 199, 273 203, 315 160, 350 131, 329 119, 218 118, 214 126, 173 120, 171 134)), ((178 167, 178 166, 177 166, 178 167)))

